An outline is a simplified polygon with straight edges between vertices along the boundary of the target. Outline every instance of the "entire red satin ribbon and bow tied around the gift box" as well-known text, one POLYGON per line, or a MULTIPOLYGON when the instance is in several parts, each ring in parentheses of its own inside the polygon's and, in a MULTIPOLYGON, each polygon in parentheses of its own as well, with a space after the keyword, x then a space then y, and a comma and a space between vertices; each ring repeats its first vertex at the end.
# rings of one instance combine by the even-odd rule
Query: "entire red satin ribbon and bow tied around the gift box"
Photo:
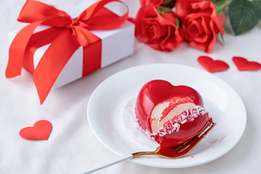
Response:
POLYGON ((10 45, 6 78, 20 75, 21 68, 24 67, 33 76, 42 104, 64 66, 80 46, 84 47, 83 76, 99 69, 101 39, 89 30, 117 28, 128 17, 128 10, 124 15, 118 16, 104 7, 112 1, 121 2, 120 0, 98 1, 77 18, 72 19, 69 14, 53 6, 27 0, 17 20, 30 24, 17 33, 10 45), (33 34, 39 25, 49 25, 51 28, 33 34), (51 45, 34 70, 34 52, 48 43, 51 45))

